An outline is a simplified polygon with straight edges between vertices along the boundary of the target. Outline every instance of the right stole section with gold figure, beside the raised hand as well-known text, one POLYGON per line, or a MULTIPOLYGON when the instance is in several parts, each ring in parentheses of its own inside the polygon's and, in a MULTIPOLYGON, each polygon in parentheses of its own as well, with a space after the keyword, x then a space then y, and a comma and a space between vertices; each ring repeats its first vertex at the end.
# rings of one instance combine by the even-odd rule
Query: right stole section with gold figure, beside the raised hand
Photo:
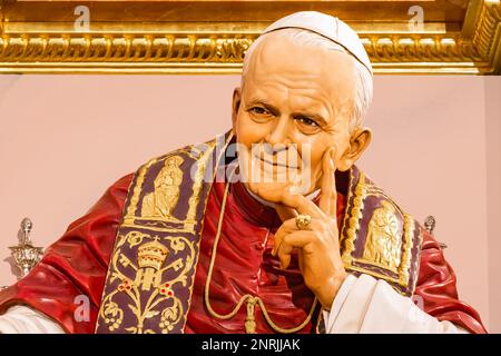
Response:
POLYGON ((352 210, 345 215, 341 231, 345 268, 386 280, 399 293, 411 295, 418 277, 421 229, 418 227, 416 231, 415 220, 404 214, 383 190, 366 180, 364 172, 358 172, 356 184, 354 179, 352 169, 347 197, 348 206, 352 201, 352 210), (369 207, 365 207, 367 199, 380 202, 372 211, 363 236, 361 224, 363 214, 369 211, 369 207), (362 256, 355 257, 356 241, 363 238, 362 256))

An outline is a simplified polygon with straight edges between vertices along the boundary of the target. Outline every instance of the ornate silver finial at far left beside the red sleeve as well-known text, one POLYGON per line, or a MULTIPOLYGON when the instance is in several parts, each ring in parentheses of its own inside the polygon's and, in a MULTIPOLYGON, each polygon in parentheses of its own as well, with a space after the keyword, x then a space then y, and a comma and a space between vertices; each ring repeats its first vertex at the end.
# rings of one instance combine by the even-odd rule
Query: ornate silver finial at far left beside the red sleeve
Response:
POLYGON ((33 222, 29 218, 24 218, 21 221, 21 241, 17 246, 10 246, 11 255, 16 260, 16 266, 20 269, 21 274, 18 279, 21 279, 33 268, 40 257, 42 256, 42 247, 35 247, 31 244, 30 233, 33 228, 33 222))

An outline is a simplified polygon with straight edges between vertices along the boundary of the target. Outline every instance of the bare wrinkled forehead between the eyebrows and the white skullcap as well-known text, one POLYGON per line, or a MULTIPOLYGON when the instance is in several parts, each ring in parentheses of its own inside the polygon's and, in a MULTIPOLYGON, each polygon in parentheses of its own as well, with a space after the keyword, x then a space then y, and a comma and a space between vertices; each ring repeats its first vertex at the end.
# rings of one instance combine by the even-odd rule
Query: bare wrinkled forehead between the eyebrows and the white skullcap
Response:
POLYGON ((291 87, 306 86, 337 99, 353 98, 356 60, 345 51, 326 46, 328 42, 298 43, 282 31, 267 33, 253 49, 243 81, 250 87, 279 81, 291 87))

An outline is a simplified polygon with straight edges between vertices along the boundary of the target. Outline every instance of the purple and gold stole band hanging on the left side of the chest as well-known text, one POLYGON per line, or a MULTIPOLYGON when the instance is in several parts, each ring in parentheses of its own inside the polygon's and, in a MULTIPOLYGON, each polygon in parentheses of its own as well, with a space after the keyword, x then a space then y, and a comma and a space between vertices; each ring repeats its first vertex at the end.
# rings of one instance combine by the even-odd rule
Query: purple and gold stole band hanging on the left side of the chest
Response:
MULTIPOLYGON (((223 141, 223 152, 233 137, 232 131, 228 134, 223 141)), ((136 174, 111 255, 96 332, 184 332, 198 261, 202 217, 212 186, 204 182, 204 177, 209 162, 215 166, 219 161, 210 160, 216 140, 205 142, 203 150, 188 146, 153 159, 136 174), (184 165, 178 169, 185 161, 191 164, 190 168, 184 165), (163 168, 157 170, 156 165, 163 168), (196 170, 189 182, 186 177, 191 176, 191 168, 196 170), (151 177, 153 171, 158 174, 151 177), (154 191, 148 191, 150 186, 154 191), (169 189, 168 199, 163 197, 160 204, 155 200, 158 187, 169 189), (193 194, 179 200, 178 188, 191 189, 193 194), (151 204, 144 202, 148 195, 151 204), (138 211, 141 198, 144 206, 138 211), (148 214, 143 209, 149 209, 148 214), (149 215, 151 211, 154 216, 149 215), (183 212, 179 211, 187 214, 185 219, 180 219, 183 212)))

